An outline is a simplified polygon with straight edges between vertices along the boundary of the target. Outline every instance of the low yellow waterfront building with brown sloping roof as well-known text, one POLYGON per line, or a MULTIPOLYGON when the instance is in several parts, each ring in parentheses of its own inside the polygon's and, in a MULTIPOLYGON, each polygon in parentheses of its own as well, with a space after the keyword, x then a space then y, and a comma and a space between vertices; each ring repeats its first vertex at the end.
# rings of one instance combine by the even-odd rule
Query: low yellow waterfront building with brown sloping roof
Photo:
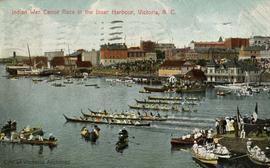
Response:
POLYGON ((158 76, 184 76, 188 71, 194 69, 195 67, 195 64, 183 60, 165 60, 160 65, 160 68, 158 70, 158 76))

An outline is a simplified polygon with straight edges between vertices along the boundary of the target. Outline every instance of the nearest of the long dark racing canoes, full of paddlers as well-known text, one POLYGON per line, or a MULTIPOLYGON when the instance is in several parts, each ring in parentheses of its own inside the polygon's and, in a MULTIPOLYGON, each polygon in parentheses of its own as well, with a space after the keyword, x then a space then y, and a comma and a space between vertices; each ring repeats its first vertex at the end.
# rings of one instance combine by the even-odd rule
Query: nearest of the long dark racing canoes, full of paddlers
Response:
MULTIPOLYGON (((63 114, 64 115, 64 114, 63 114)), ((150 126, 150 123, 136 123, 131 122, 130 123, 119 123, 119 122, 112 122, 112 121, 94 121, 89 120, 89 118, 70 118, 64 115, 67 122, 77 122, 77 123, 93 123, 93 124, 110 124, 110 125, 130 125, 130 126, 150 126)))

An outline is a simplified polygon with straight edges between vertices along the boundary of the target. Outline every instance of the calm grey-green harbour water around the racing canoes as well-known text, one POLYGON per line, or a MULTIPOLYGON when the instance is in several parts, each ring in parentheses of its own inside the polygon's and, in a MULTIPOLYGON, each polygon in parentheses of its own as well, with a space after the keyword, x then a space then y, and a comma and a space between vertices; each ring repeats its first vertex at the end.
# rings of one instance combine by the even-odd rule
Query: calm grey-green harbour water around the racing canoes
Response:
MULTIPOLYGON (((52 87, 46 81, 33 83, 29 78, 9 80, 5 67, 0 66, 0 125, 8 119, 18 122, 19 130, 24 126, 42 127, 46 134, 52 132, 59 144, 53 150, 48 147, 0 144, 0 167, 105 167, 105 168, 187 168, 198 167, 186 150, 172 150, 170 139, 194 128, 210 128, 218 116, 232 116, 239 106, 242 114, 252 114, 255 102, 259 104, 259 116, 270 117, 269 99, 266 94, 239 98, 233 95, 216 97, 214 90, 200 94, 203 98, 198 112, 162 113, 175 119, 155 122, 151 127, 127 127, 130 134, 129 147, 115 151, 117 134, 121 126, 100 125, 101 135, 96 144, 85 142, 80 137, 84 124, 65 123, 62 114, 80 115, 87 111, 108 109, 126 111, 135 98, 146 98, 148 94, 138 91, 142 85, 127 87, 122 84, 110 86, 104 78, 88 79, 100 88, 84 85, 52 87), (132 138, 134 137, 134 138, 132 138)), ((168 95, 157 93, 155 95, 168 95)), ((172 94, 174 95, 174 94, 172 94)), ((91 125, 87 125, 91 127, 91 125)), ((238 165, 239 166, 239 165, 238 165)), ((231 167, 231 166, 225 166, 231 167)), ((240 166, 241 167, 241 166, 240 166)))

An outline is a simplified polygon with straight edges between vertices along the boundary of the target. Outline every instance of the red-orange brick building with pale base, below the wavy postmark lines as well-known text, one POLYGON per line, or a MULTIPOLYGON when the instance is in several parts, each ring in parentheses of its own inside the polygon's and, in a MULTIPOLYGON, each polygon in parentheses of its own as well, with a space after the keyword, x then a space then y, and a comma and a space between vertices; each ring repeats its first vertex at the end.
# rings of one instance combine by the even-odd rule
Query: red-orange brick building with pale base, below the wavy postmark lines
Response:
POLYGON ((104 66, 126 62, 128 49, 124 43, 104 44, 100 47, 100 63, 104 66))

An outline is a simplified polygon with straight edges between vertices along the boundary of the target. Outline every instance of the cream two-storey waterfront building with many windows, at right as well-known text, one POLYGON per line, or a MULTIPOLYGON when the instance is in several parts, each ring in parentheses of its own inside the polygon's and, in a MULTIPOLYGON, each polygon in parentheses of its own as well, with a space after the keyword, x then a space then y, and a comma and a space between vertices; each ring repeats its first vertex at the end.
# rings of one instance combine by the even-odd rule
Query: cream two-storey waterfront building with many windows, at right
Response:
POLYGON ((231 60, 224 63, 210 61, 207 64, 206 77, 210 83, 257 82, 259 69, 243 61, 231 60))

